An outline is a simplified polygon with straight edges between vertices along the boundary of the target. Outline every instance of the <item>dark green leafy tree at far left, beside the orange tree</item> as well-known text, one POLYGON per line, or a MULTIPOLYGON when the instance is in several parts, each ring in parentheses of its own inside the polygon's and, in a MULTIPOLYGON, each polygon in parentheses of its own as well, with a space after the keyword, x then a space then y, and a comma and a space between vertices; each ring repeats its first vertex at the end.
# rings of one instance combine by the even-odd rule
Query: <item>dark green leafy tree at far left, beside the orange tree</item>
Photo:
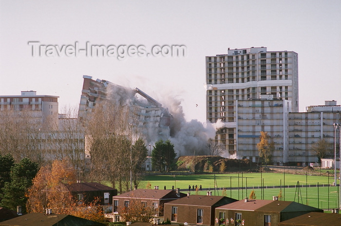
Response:
POLYGON ((22 206, 22 212, 26 212, 27 197, 25 193, 32 185, 32 180, 38 171, 38 164, 31 162, 28 158, 23 158, 19 163, 11 168, 11 182, 5 182, 2 188, 0 206, 16 210, 17 206, 22 206))

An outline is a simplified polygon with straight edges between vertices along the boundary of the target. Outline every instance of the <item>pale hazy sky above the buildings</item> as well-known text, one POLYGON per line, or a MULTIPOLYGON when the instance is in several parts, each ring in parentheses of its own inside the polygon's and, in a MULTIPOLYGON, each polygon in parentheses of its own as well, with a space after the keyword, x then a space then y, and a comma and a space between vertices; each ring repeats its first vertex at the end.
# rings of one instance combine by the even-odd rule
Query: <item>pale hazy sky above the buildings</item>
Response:
POLYGON ((58 95, 77 106, 83 75, 182 99, 187 120, 206 121, 205 56, 267 47, 299 55, 299 104, 341 104, 340 0, 0 0, 0 95, 58 95), (185 45, 186 57, 32 57, 44 45, 185 45), (196 107, 196 104, 198 105, 196 107))

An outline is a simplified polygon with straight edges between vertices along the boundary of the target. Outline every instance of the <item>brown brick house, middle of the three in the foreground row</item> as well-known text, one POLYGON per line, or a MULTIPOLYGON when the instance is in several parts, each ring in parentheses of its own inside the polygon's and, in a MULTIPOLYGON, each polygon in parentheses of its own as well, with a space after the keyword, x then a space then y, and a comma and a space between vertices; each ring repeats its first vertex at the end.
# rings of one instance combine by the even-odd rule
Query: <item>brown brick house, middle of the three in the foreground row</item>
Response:
POLYGON ((165 204, 164 218, 171 223, 214 225, 214 210, 236 199, 226 196, 188 195, 165 204))

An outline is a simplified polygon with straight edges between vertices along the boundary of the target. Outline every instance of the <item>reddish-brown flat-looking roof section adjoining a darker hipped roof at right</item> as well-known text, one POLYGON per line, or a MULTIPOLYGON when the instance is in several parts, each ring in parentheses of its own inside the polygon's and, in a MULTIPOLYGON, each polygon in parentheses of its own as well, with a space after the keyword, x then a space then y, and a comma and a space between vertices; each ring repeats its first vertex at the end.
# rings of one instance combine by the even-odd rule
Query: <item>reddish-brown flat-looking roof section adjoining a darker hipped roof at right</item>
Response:
POLYGON ((252 200, 249 199, 247 202, 245 200, 239 200, 234 203, 230 203, 221 207, 217 207, 217 209, 233 209, 233 210, 248 210, 254 211, 260 207, 263 207, 269 203, 273 202, 272 200, 252 200))

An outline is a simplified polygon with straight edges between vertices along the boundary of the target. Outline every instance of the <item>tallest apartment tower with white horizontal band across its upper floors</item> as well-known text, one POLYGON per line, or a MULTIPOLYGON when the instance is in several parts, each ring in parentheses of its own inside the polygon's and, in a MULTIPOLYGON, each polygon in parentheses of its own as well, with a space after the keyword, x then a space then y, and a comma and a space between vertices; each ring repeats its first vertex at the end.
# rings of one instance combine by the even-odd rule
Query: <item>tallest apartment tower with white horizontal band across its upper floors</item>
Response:
POLYGON ((206 57, 207 120, 221 120, 215 141, 222 145, 225 157, 237 153, 237 100, 260 99, 291 102, 298 112, 298 54, 292 51, 267 52, 266 47, 234 49, 227 54, 206 57))

